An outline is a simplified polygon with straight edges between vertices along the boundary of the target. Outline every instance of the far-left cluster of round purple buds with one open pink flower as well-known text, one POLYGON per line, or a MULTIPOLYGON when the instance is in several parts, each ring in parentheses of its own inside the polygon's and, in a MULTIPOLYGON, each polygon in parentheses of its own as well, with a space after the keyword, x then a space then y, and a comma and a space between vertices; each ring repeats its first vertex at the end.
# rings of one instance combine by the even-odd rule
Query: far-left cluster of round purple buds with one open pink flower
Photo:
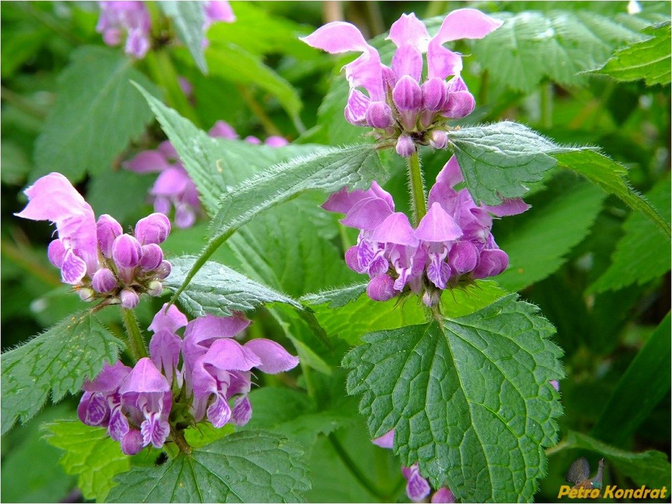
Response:
POLYGON ((28 205, 17 217, 56 224, 58 238, 48 247, 49 260, 64 283, 74 285, 84 301, 106 299, 134 308, 140 295, 161 295, 171 272, 161 244, 170 221, 161 213, 140 219, 134 233, 124 233, 114 217, 95 220, 93 209, 60 173, 50 173, 26 189, 28 205))

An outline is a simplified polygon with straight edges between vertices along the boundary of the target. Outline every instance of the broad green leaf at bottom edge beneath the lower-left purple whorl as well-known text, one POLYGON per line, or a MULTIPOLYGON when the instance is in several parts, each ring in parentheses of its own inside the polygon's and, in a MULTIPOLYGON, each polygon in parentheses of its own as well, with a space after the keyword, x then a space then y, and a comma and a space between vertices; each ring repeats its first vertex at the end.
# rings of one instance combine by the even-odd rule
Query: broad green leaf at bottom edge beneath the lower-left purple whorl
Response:
POLYGON ((302 451, 279 434, 235 432, 159 467, 117 476, 110 502, 296 502, 310 489, 302 451))

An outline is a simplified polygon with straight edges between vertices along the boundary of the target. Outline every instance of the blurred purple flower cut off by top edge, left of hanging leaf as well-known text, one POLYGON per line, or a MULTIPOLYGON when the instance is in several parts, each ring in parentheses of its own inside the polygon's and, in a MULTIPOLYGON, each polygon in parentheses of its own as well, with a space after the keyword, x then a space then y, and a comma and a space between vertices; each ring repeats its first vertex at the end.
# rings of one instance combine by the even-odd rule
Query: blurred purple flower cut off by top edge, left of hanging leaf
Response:
POLYGON ((101 1, 95 31, 108 46, 118 46, 126 34, 126 54, 144 58, 149 50, 149 11, 142 1, 101 1))

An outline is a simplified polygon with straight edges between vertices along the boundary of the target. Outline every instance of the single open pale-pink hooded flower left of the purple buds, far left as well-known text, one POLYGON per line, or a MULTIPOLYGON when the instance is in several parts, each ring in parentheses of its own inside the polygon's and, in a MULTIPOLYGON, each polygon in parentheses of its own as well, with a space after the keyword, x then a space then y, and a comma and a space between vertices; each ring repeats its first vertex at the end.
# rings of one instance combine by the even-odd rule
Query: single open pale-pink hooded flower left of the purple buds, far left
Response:
POLYGON ((60 173, 38 179, 26 191, 28 205, 17 217, 56 224, 60 244, 50 245, 50 259, 59 264, 64 283, 79 285, 99 267, 95 215, 91 205, 60 173))

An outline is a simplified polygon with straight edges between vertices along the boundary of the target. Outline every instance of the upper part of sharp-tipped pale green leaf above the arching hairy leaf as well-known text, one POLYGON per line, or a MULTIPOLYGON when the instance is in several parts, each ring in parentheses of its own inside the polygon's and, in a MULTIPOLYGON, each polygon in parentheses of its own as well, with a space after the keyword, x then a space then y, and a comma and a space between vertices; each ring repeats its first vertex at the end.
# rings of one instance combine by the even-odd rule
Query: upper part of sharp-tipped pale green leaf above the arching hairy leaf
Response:
POLYGON ((136 86, 157 116, 161 128, 177 150, 190 177, 201 195, 201 202, 210 215, 217 212, 218 201, 223 193, 233 189, 261 168, 287 158, 309 154, 321 146, 290 145, 271 148, 252 145, 248 142, 212 138, 196 128, 177 111, 167 107, 136 86))

